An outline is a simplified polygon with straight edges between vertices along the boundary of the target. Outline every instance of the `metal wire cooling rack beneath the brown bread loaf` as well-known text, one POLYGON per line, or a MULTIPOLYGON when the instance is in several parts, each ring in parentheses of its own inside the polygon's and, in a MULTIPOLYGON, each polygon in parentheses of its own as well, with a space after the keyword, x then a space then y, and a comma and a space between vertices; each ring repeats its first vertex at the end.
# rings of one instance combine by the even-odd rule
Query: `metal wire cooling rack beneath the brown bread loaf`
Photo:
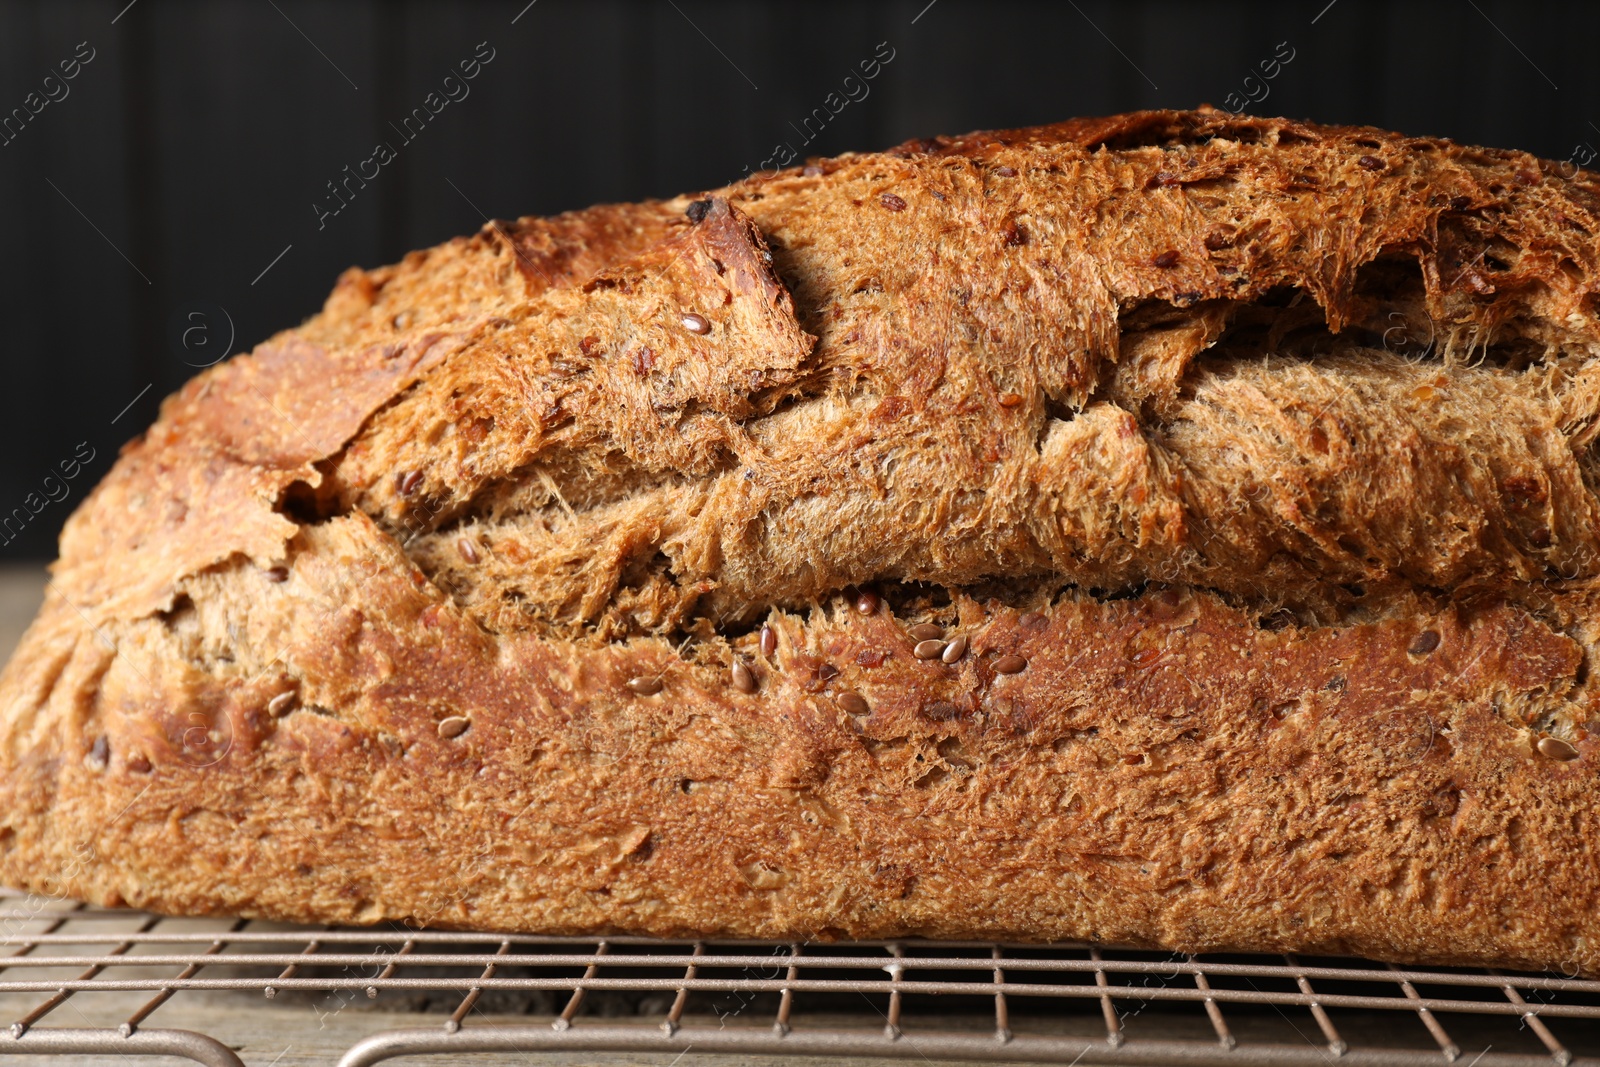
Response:
MULTIPOLYGON (((254 1013, 259 1030, 266 1011, 282 1038, 310 1025, 296 1003, 304 1011, 336 1000, 342 1013, 398 998, 403 1021, 426 1025, 394 1025, 395 1008, 352 1009, 357 1040, 296 1062, 693 1049, 835 1061, 1600 1067, 1600 982, 1552 974, 1090 944, 293 928, 5 891, 0 929, 0 1013, 11 1016, 0 1064, 122 1054, 242 1067, 230 1021, 254 1013), (107 1005, 93 1009, 93 998, 107 1005), (202 1011, 179 1013, 186 1000, 202 1011), (67 1006, 83 1025, 56 1025, 67 1006), (198 1017, 205 1030, 150 1025, 157 1013, 163 1022, 198 1017)), ((261 1062, 269 1057, 262 1046, 261 1062)))

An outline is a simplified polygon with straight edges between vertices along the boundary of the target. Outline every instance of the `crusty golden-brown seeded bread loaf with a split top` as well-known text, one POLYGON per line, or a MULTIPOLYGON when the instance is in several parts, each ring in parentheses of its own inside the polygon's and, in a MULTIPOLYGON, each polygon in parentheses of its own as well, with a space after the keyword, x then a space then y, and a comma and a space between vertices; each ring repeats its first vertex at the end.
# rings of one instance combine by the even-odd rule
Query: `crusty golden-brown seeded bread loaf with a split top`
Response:
POLYGON ((1197 110, 350 270, 67 523, 0 881, 1600 973, 1597 235, 1197 110))

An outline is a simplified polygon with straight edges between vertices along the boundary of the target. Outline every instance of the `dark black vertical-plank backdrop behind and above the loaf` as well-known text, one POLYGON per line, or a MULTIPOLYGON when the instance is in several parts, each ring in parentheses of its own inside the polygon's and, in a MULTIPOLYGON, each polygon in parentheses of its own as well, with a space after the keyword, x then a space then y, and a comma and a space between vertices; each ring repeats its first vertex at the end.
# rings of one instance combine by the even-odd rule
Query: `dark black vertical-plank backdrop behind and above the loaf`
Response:
POLYGON ((0 515, 80 443, 96 453, 0 558, 53 555, 122 442, 230 333, 248 349, 315 312, 341 269, 485 214, 706 189, 779 141, 827 155, 1224 106, 1290 48, 1248 83, 1269 93, 1250 110, 1555 160, 1600 149, 1592 0, 525 3, 0 0, 0 115, 94 56, 0 146, 0 515), (402 147, 389 123, 480 42, 494 58, 470 94, 402 147), (790 123, 880 42, 893 59, 870 94, 803 144, 790 123), (379 139, 398 158, 318 229, 326 182, 379 139))

